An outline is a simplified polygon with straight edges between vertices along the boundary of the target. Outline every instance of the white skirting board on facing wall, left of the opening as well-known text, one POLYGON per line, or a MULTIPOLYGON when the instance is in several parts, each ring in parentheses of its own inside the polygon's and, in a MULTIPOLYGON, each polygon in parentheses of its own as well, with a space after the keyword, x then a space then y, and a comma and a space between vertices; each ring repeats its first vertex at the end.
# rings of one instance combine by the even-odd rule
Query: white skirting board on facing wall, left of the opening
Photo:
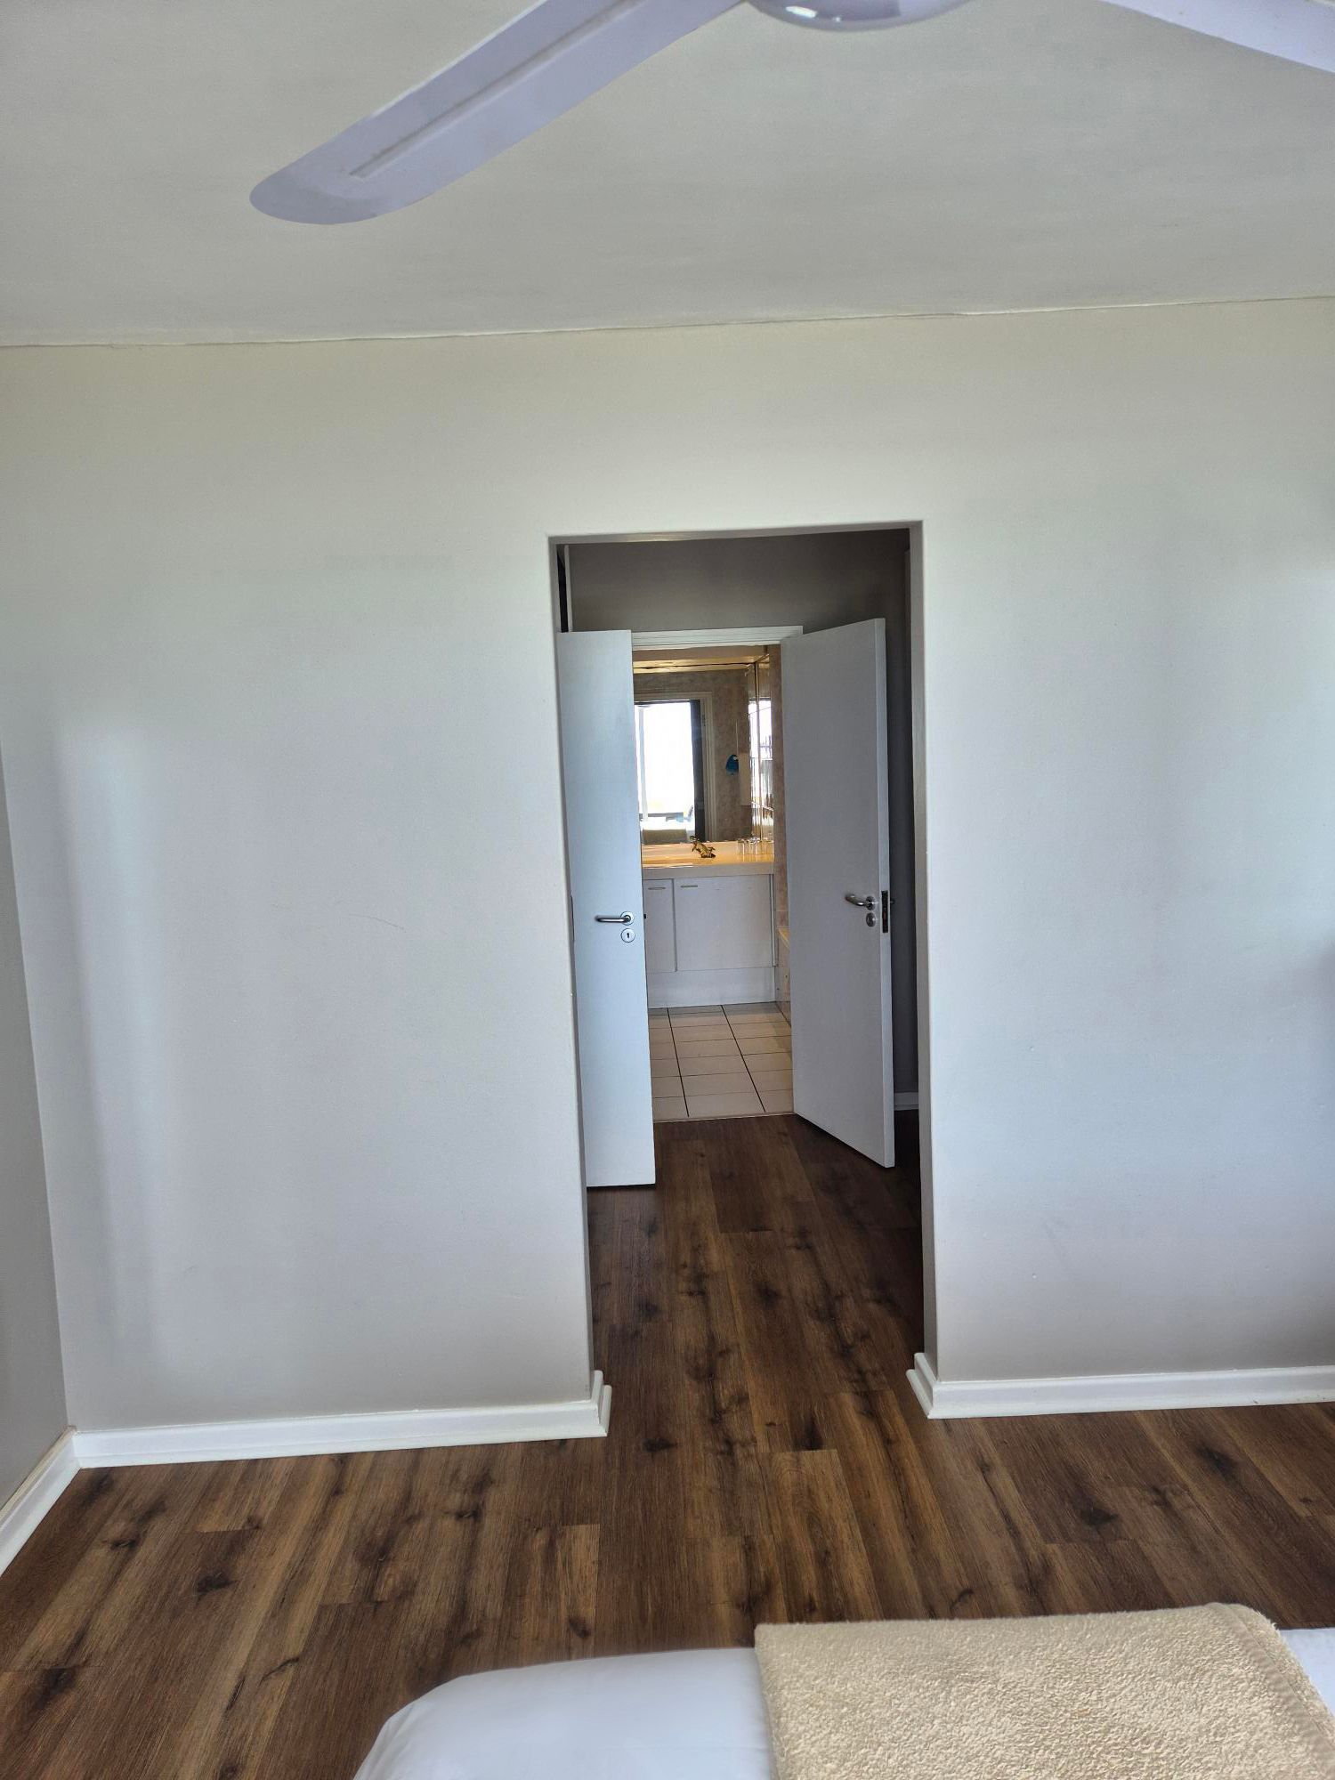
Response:
POLYGON ((584 1440, 607 1433, 612 1388, 593 1374, 573 1403, 486 1410, 392 1410, 374 1415, 303 1415, 290 1420, 189 1422, 176 1428, 80 1428, 80 1465, 180 1465, 224 1458, 308 1458, 507 1440, 584 1440))

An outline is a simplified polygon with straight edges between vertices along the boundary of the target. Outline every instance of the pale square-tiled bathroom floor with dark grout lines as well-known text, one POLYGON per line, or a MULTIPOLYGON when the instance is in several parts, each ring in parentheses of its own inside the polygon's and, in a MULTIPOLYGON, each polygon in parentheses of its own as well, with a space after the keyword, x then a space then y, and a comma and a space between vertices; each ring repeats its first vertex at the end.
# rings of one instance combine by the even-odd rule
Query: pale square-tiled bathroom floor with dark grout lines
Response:
POLYGON ((776 1002, 650 1009, 653 1118, 792 1112, 792 1027, 776 1002))

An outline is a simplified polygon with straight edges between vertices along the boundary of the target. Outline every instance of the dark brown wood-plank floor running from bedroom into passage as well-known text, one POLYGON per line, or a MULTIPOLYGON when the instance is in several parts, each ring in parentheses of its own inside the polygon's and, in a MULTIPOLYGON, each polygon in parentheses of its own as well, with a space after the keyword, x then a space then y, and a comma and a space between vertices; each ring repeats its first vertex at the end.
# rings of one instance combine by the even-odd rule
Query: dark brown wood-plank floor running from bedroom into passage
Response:
POLYGON ((593 1196, 605 1442, 85 1472, 0 1581, 5 1780, 349 1780, 449 1675, 758 1620, 1335 1623, 1331 1408, 929 1424, 913 1171, 659 1139, 593 1196))

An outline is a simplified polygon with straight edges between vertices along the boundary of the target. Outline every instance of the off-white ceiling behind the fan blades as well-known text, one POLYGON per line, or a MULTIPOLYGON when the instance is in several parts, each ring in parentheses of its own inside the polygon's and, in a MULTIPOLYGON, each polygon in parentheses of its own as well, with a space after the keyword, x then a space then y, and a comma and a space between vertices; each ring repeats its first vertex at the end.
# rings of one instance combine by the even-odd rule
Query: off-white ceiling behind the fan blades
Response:
POLYGON ((1335 77, 1102 5, 740 7, 397 215, 251 185, 520 0, 5 0, 0 340, 263 340, 1335 292, 1335 77))

